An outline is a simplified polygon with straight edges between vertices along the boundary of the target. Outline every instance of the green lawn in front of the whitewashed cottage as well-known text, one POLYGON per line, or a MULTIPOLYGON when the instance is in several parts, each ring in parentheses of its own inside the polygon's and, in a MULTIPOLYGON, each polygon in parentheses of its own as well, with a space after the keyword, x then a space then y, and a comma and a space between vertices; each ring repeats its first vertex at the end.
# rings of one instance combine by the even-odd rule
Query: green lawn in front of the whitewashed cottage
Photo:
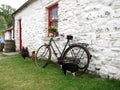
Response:
POLYGON ((120 81, 98 76, 65 76, 56 64, 38 68, 20 55, 0 60, 0 90, 120 90, 120 81))

